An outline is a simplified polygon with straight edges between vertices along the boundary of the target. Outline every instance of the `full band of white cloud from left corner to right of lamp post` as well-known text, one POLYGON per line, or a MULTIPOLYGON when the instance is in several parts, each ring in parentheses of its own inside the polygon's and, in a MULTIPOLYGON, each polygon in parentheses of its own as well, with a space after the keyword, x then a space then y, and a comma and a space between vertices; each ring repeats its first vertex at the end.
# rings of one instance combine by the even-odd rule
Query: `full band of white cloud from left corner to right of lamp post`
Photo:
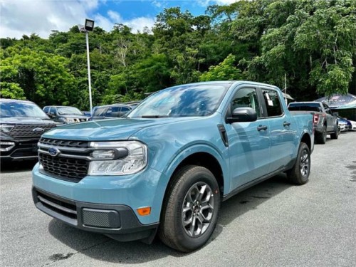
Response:
POLYGON ((148 16, 125 20, 111 10, 106 15, 99 14, 99 5, 105 4, 102 0, 0 0, 0 38, 21 38, 32 33, 48 38, 52 30, 66 32, 84 24, 85 19, 94 19, 95 26, 105 31, 111 31, 115 23, 122 23, 132 28, 133 33, 145 26, 152 28, 155 23, 155 18, 148 16))

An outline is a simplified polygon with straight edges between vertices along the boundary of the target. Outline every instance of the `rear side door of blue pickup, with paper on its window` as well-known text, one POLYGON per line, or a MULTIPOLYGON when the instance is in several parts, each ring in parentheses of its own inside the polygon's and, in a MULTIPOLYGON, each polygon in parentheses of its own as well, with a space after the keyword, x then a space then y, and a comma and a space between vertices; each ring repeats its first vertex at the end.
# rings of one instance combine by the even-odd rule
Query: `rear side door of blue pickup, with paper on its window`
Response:
POLYGON ((295 131, 298 126, 295 120, 284 112, 278 92, 273 88, 261 88, 263 108, 269 123, 268 133, 271 140, 269 173, 276 172, 293 159, 295 155, 295 131))

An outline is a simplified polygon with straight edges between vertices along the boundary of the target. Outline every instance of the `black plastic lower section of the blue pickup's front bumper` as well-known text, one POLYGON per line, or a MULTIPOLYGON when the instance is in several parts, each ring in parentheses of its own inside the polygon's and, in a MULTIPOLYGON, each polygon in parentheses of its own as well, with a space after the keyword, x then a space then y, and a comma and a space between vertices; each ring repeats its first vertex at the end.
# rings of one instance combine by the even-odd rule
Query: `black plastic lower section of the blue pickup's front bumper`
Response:
POLYGON ((158 223, 141 224, 129 206, 73 201, 36 187, 32 188, 32 197, 37 209, 53 218, 118 241, 142 239, 150 243, 157 231, 158 223))

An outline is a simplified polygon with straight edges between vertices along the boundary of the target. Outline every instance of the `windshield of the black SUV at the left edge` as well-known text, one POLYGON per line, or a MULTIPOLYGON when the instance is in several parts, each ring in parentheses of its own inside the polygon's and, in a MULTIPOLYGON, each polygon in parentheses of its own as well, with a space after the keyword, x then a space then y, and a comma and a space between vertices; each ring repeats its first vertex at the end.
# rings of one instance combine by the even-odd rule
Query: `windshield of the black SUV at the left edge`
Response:
POLYGON ((0 117, 40 117, 48 119, 41 108, 31 102, 1 102, 0 117))

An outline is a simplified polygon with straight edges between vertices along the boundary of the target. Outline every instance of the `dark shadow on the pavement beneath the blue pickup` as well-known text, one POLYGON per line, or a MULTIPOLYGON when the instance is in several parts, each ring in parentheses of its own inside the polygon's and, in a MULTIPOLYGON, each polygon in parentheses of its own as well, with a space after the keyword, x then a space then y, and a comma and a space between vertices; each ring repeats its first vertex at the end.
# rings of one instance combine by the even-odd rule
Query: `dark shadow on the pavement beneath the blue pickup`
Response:
MULTIPOLYGON (((276 177, 272 177, 266 182, 251 187, 224 201, 221 204, 218 224, 208 244, 214 242, 214 239, 224 231, 224 226, 230 224, 244 213, 257 209, 258 205, 263 204, 263 202, 268 201, 268 199, 275 197, 291 186, 286 181, 285 174, 278 174, 276 177)), ((143 244, 140 241, 119 242, 101 234, 75 229, 56 219, 51 220, 48 230, 58 241, 73 248, 74 251, 78 251, 76 253, 83 253, 90 258, 110 263, 145 263, 167 256, 182 257, 189 255, 165 246, 157 237, 151 245, 143 244)), ((74 254, 54 254, 48 258, 48 261, 65 260, 74 254)))

